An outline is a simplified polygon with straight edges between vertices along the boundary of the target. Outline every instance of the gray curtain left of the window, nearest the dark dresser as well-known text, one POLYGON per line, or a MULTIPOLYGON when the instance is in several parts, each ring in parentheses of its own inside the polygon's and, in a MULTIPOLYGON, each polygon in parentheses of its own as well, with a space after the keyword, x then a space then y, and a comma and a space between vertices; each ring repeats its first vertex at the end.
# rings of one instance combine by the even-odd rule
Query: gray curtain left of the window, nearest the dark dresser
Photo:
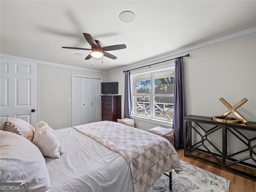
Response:
POLYGON ((124 80, 124 118, 130 118, 132 113, 132 93, 130 85, 130 71, 125 72, 124 80))

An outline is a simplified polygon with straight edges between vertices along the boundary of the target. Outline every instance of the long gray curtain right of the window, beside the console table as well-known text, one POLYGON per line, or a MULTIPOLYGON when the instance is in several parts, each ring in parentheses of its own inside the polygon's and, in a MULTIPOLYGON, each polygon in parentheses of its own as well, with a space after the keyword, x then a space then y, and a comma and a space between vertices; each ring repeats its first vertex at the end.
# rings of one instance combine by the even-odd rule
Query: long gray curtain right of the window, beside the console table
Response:
POLYGON ((174 147, 183 148, 183 117, 185 116, 184 84, 183 84, 183 58, 175 60, 174 81, 174 147))

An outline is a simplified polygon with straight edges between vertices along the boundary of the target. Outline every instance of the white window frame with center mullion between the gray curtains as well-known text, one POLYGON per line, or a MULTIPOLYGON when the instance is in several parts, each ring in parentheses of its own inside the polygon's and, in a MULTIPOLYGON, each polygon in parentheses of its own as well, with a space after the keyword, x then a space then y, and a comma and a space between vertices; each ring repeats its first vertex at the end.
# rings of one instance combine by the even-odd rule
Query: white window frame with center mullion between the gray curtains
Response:
MULTIPOLYGON (((172 120, 166 120, 164 118, 158 118, 158 117, 154 117, 154 108, 155 107, 150 107, 150 116, 145 116, 145 115, 140 115, 140 114, 135 114, 134 113, 134 96, 142 96, 145 94, 137 94, 136 93, 136 85, 135 85, 135 80, 134 78, 136 76, 139 75, 146 75, 146 74, 150 74, 150 106, 154 106, 154 97, 155 96, 162 96, 162 94, 155 94, 154 93, 154 87, 155 87, 155 83, 154 83, 154 74, 155 73, 159 73, 159 72, 164 72, 166 70, 175 70, 174 67, 174 63, 169 63, 168 65, 162 66, 162 67, 158 67, 158 68, 152 68, 150 70, 140 70, 137 72, 131 72, 130 74, 130 85, 131 85, 131 93, 132 93, 132 114, 131 114, 131 118, 134 118, 136 120, 142 120, 142 121, 146 121, 146 122, 151 122, 154 124, 158 124, 158 125, 164 125, 164 126, 172 126, 172 120)), ((163 96, 174 96, 174 94, 163 94, 163 96)))

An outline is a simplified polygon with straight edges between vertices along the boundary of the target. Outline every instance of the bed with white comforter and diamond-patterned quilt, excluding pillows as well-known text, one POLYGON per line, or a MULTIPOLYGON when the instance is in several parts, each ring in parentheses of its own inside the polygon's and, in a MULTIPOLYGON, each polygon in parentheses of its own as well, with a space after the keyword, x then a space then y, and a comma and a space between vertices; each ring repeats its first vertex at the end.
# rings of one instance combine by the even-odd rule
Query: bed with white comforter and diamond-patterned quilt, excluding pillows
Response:
POLYGON ((44 191, 146 192, 164 172, 182 171, 168 140, 123 124, 95 122, 56 134, 64 153, 44 157, 50 180, 44 191))

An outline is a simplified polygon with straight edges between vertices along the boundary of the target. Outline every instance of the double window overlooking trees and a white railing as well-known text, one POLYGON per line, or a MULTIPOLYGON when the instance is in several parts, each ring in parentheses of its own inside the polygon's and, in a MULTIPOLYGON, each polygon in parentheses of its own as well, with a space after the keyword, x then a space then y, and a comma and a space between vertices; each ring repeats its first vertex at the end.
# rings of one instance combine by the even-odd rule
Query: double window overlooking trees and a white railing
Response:
POLYGON ((134 74, 132 78, 132 115, 172 122, 174 68, 134 74))

